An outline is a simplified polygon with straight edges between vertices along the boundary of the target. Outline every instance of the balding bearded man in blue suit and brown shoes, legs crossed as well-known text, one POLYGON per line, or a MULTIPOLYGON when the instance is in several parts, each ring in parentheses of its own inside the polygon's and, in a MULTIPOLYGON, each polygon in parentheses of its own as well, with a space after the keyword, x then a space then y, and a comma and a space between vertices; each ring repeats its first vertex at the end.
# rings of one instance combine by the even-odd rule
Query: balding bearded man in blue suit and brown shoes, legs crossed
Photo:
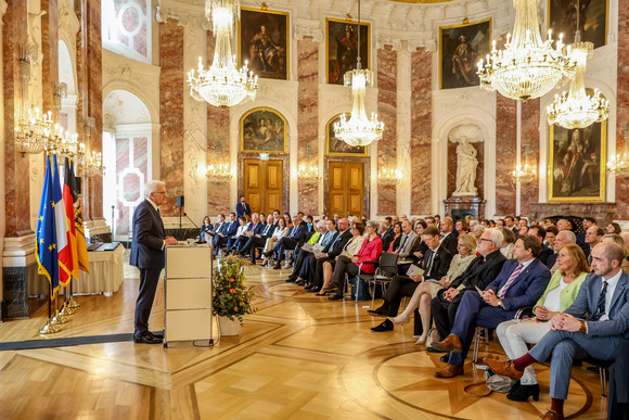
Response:
POLYGON ((621 269, 624 250, 616 243, 600 243, 592 253, 590 273, 575 303, 550 320, 552 331, 530 352, 515 360, 485 359, 496 373, 519 379, 536 361, 551 359, 551 409, 545 420, 563 420, 573 359, 588 356, 614 360, 622 339, 629 338, 629 275, 621 269), (552 358, 551 358, 552 355, 552 358))

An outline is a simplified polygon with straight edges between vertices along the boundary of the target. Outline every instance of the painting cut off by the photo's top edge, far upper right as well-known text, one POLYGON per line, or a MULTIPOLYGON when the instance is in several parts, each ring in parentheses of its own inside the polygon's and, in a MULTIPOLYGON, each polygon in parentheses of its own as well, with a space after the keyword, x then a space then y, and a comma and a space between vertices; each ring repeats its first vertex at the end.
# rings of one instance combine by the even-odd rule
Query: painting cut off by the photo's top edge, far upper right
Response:
POLYGON ((594 48, 607 43, 607 0, 548 0, 548 22, 549 28, 553 30, 553 39, 559 39, 560 34, 563 34, 565 44, 575 41, 577 8, 581 41, 592 42, 594 48))

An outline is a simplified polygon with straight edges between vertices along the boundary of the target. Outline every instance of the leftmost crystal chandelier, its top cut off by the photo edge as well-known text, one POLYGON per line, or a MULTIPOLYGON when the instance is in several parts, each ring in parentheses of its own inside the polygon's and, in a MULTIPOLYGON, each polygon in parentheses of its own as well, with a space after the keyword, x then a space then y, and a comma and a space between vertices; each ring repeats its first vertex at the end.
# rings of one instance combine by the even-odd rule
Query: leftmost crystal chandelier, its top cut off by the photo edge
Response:
POLYGON ((198 69, 190 71, 188 85, 190 96, 214 106, 233 106, 252 101, 256 97, 258 78, 248 73, 247 63, 239 71, 235 56, 231 54, 231 37, 236 20, 240 20, 239 0, 206 0, 205 16, 211 17, 211 30, 216 36, 214 60, 208 71, 198 58, 198 69))

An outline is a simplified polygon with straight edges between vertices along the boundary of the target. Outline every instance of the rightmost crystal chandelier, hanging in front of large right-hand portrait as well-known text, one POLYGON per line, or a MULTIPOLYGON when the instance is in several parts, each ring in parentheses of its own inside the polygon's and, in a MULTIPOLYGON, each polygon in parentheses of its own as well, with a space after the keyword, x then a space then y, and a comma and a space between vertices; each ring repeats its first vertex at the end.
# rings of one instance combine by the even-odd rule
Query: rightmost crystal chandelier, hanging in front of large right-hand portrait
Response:
POLYGON ((585 128, 594 123, 607 119, 607 101, 599 90, 594 94, 586 93, 586 63, 592 56, 594 44, 592 42, 581 42, 581 33, 578 28, 579 3, 577 2, 577 31, 575 33, 575 43, 573 43, 573 59, 577 63, 577 72, 570 81, 570 90, 560 97, 555 94, 554 102, 547 109, 548 124, 560 125, 567 129, 585 128))

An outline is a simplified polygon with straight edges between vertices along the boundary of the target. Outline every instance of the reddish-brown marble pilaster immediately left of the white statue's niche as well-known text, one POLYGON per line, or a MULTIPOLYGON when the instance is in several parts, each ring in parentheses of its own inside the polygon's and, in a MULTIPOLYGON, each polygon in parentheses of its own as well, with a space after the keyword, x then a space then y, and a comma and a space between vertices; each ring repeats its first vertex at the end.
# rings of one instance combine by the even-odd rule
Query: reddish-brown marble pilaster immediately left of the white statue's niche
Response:
POLYGON ((432 208, 432 68, 433 52, 411 53, 411 214, 428 215, 432 208))

